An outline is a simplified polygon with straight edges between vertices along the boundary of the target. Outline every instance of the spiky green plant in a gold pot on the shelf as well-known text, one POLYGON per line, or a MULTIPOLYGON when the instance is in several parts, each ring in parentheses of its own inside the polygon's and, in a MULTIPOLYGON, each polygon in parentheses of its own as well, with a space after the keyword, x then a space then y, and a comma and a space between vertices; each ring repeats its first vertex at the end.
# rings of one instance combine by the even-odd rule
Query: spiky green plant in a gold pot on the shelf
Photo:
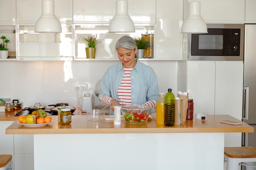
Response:
POLYGON ((87 58, 95 58, 96 46, 99 43, 98 35, 88 35, 87 38, 81 35, 81 39, 85 44, 85 52, 87 58))

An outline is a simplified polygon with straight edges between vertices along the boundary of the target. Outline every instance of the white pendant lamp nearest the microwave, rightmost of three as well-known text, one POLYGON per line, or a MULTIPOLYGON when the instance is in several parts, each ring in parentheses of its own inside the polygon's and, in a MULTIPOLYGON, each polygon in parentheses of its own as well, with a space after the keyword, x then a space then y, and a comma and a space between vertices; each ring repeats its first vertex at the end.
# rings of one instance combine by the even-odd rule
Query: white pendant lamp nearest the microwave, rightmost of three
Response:
POLYGON ((200 2, 189 2, 189 15, 182 24, 181 33, 208 33, 200 14, 200 6, 200 2))

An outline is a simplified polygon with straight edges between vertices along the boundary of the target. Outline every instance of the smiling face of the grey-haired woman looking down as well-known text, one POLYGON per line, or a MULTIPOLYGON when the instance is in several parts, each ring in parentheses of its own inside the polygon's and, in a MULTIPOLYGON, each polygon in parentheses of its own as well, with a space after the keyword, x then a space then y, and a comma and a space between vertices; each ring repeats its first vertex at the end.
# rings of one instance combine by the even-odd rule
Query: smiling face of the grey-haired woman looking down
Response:
POLYGON ((137 53, 137 46, 135 50, 128 50, 119 47, 117 49, 117 56, 120 62, 127 68, 134 68, 136 61, 134 60, 135 54, 137 53))

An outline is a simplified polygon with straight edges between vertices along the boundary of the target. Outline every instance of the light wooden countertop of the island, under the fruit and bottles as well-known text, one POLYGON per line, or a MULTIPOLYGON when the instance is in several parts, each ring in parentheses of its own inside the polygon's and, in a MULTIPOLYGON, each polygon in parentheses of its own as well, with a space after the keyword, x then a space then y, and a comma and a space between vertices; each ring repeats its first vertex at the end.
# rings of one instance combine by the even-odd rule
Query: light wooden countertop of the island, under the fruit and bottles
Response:
POLYGON ((186 121, 172 127, 159 126, 155 119, 145 124, 114 125, 113 120, 89 121, 86 115, 73 115, 70 125, 58 123, 58 116, 51 116, 53 122, 43 127, 25 127, 13 122, 6 134, 85 134, 85 133, 205 133, 205 132, 253 132, 254 128, 244 122, 241 125, 220 123, 221 120, 239 121, 230 115, 208 115, 207 120, 186 121))

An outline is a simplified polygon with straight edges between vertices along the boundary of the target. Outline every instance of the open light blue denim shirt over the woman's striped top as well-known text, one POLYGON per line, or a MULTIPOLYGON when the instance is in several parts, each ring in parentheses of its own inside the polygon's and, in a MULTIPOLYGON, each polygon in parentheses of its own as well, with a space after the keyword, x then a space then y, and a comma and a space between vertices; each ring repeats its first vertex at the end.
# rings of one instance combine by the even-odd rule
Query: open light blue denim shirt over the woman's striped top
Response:
MULTIPOLYGON (((117 89, 121 84, 123 76, 124 70, 121 62, 110 66, 101 80, 99 99, 102 95, 108 95, 118 101, 117 89)), ((138 60, 131 71, 131 95, 132 104, 143 104, 149 100, 157 101, 159 97, 157 75, 153 68, 138 60)), ((110 108, 110 115, 113 114, 114 112, 110 108)))

